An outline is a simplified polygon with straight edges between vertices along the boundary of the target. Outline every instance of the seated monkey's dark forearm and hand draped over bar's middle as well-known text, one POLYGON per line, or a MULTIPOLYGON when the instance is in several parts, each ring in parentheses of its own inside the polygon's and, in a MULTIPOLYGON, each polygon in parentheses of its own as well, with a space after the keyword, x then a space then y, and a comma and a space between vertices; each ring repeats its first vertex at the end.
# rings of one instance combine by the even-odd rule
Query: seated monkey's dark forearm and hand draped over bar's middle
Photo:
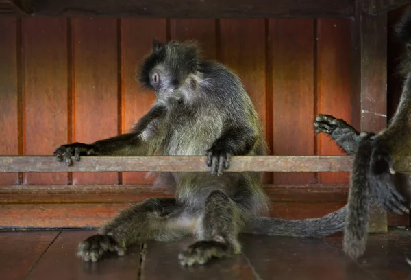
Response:
POLYGON ((256 141, 257 133, 253 128, 236 127, 225 130, 207 150, 207 165, 211 167, 211 175, 223 174, 223 167, 229 167, 230 157, 248 154, 256 141))

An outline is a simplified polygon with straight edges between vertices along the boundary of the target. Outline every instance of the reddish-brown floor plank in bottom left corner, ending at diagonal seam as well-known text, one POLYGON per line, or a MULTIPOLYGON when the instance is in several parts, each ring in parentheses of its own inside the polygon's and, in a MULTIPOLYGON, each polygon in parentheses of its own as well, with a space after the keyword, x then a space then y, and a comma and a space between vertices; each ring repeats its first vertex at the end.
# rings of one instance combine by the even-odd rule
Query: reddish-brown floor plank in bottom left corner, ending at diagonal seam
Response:
POLYGON ((60 231, 0 231, 1 279, 20 280, 60 231))

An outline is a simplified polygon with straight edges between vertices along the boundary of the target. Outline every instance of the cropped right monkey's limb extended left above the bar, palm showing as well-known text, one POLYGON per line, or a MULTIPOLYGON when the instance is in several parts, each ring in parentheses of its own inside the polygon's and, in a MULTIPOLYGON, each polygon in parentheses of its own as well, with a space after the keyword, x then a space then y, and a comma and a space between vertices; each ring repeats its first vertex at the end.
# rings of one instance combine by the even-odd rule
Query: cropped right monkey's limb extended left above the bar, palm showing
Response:
POLYGON ((323 132, 329 135, 350 156, 355 154, 360 139, 366 135, 360 135, 355 128, 343 119, 336 119, 332 115, 317 115, 314 128, 316 133, 323 132))

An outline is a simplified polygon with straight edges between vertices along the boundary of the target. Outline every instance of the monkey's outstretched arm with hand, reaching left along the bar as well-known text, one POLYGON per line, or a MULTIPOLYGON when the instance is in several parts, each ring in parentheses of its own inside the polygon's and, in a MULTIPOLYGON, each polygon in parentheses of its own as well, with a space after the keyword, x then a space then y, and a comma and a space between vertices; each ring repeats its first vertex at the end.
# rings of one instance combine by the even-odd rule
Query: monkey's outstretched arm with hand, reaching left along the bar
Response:
POLYGON ((164 114, 165 108, 155 105, 138 121, 130 133, 95 141, 91 144, 76 142, 61 145, 55 150, 53 155, 58 161, 63 161, 64 159, 67 165, 72 165, 71 156, 75 156, 75 160, 79 161, 80 155, 141 156, 148 154, 149 141, 156 134, 155 130, 158 120, 164 114))

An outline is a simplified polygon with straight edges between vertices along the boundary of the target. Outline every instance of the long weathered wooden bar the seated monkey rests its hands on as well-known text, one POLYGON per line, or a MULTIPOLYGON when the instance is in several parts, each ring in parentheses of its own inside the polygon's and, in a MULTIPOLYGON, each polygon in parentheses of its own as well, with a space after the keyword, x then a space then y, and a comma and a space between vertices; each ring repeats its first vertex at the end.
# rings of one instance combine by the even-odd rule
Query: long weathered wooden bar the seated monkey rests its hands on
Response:
MULTIPOLYGON (((349 172, 351 156, 234 156, 227 172, 349 172)), ((210 172, 206 156, 0 156, 0 172, 210 172)))

